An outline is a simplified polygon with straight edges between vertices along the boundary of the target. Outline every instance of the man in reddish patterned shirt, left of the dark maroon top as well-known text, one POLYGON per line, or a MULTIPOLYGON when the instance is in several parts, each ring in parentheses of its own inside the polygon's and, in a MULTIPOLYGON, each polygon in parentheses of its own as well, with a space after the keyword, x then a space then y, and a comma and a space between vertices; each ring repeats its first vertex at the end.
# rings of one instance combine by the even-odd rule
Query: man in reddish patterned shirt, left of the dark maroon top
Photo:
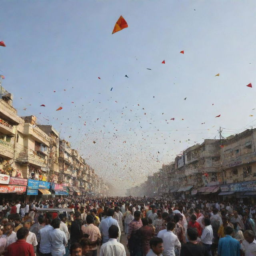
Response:
POLYGON ((130 256, 136 255, 136 252, 140 250, 140 240, 137 231, 142 226, 143 225, 140 219, 140 211, 136 210, 134 212, 134 220, 129 224, 129 232, 127 235, 130 256))

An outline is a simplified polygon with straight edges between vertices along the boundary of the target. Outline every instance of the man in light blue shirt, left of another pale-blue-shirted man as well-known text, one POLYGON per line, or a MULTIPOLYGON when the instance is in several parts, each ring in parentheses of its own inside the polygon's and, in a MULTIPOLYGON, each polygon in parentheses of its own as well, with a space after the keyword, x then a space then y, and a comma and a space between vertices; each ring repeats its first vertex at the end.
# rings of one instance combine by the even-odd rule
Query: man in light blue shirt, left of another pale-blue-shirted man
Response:
POLYGON ((45 227, 38 231, 36 240, 39 243, 40 256, 51 256, 51 241, 50 231, 53 230, 51 226, 52 219, 50 217, 45 218, 45 227))

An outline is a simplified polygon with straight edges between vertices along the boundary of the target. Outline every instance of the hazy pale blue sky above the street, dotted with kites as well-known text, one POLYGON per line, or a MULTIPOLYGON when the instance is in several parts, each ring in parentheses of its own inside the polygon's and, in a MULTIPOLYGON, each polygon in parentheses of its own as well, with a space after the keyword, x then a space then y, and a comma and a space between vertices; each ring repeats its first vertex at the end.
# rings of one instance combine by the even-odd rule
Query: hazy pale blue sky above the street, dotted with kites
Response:
POLYGON ((254 0, 2 0, 2 86, 20 116, 51 124, 124 191, 220 126, 224 137, 255 128, 255 10, 254 0), (128 28, 112 34, 120 15, 128 28))

